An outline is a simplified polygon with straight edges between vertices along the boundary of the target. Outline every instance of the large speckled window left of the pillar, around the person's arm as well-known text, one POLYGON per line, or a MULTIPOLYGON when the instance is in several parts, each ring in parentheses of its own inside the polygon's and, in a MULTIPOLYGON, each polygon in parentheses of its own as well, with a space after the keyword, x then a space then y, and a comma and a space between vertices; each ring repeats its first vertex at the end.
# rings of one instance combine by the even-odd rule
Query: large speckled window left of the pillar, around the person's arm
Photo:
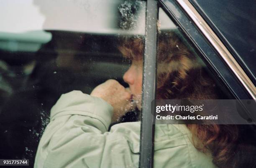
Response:
MULTIPOLYGON (((128 87, 123 74, 131 61, 119 47, 128 39, 143 42, 146 5, 140 0, 0 2, 0 158, 26 158, 33 166, 61 94, 90 94, 108 79, 128 87)), ((138 110, 131 111, 119 122, 138 116, 138 110)))

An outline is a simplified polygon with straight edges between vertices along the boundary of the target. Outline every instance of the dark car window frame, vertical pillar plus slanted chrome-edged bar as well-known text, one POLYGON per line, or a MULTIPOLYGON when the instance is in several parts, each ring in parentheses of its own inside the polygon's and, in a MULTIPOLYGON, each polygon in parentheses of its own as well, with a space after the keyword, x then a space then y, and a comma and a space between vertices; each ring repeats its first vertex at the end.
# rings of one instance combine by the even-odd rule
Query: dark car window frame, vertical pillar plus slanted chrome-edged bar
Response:
POLYGON ((224 84, 225 89, 235 99, 255 99, 256 97, 255 86, 251 80, 188 0, 158 0, 157 2, 158 4, 156 0, 148 0, 146 10, 140 168, 149 168, 154 165, 154 118, 147 111, 148 107, 151 107, 151 101, 156 97, 157 68, 157 20, 150 17, 157 17, 159 7, 179 27, 184 37, 215 74, 216 79, 224 84), (152 10, 152 7, 157 7, 157 10, 152 10), (154 32, 155 34, 152 35, 154 32), (148 48, 149 46, 151 48, 148 48), (149 73, 146 72, 153 74, 148 75, 149 73))

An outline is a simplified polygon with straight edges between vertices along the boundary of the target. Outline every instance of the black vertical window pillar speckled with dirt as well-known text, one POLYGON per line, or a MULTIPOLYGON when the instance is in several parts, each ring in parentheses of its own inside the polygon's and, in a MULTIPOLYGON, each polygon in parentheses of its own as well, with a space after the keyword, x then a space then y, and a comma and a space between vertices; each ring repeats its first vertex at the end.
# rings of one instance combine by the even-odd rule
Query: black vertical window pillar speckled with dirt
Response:
POLYGON ((157 1, 147 0, 140 168, 151 168, 154 161, 154 116, 151 114, 151 102, 156 98, 157 20, 157 1))

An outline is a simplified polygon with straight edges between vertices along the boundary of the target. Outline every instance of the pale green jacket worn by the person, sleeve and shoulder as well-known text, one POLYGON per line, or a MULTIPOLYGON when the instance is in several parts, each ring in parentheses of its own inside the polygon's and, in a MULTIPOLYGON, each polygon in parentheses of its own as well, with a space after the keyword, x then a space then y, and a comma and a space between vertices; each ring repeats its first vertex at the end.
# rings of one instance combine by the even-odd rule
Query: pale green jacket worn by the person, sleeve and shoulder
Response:
MULTIPOLYGON (((51 109, 36 153, 35 168, 135 168, 139 162, 140 122, 121 123, 108 132, 113 107, 72 91, 51 109)), ((184 125, 156 125, 155 168, 214 168, 197 151, 184 125)))

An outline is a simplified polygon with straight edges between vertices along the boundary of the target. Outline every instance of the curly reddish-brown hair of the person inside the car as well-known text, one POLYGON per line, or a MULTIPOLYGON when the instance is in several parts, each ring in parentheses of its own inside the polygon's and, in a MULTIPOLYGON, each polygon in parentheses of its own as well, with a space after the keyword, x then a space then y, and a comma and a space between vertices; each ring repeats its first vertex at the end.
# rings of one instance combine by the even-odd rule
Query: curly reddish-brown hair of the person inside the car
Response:
MULTIPOLYGON (((142 37, 126 38, 118 47, 124 57, 133 61, 143 59, 142 37)), ((192 52, 174 32, 161 32, 158 40, 157 99, 218 99, 215 82, 192 52)), ((241 126, 216 124, 187 124, 195 147, 210 150, 218 167, 252 166, 255 161, 241 159, 241 126)), ((250 143, 251 144, 251 143, 250 143)), ((251 150, 251 149, 250 149, 251 150)), ((255 153, 255 148, 251 150, 255 153), (254 151, 253 151, 254 150, 254 151)))

